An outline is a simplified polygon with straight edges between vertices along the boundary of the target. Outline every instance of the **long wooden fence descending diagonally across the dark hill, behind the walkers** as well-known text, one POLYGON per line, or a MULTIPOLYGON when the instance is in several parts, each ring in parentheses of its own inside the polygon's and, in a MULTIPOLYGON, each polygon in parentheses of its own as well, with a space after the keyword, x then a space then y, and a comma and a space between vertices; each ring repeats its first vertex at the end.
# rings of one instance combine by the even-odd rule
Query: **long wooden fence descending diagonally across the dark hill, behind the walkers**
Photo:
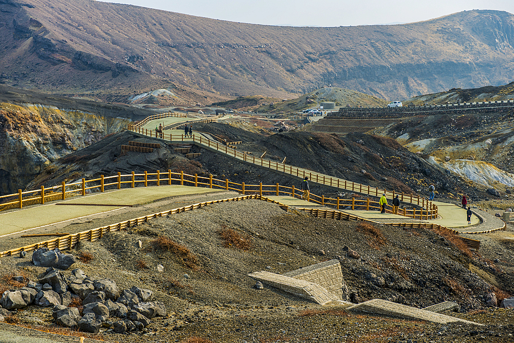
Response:
MULTIPOLYGON (((160 138, 158 137, 161 135, 158 132, 152 131, 152 130, 146 130, 138 128, 137 130, 133 130, 133 132, 150 136, 154 138, 160 138)), ((238 151, 234 148, 228 147, 227 145, 205 138, 201 135, 193 135, 193 137, 185 137, 183 134, 166 134, 164 133, 163 140, 169 140, 169 141, 182 141, 182 142, 188 142, 188 143, 194 143, 195 145, 198 145, 202 148, 207 148, 209 150, 214 150, 219 153, 224 153, 227 156, 230 156, 232 158, 242 160, 245 163, 253 164, 261 167, 265 167, 268 169, 276 170, 278 172, 282 172, 284 174, 289 174, 292 176, 296 176, 298 178, 304 178, 305 176, 309 177, 310 182, 320 184, 323 186, 329 186, 337 188, 338 190, 346 190, 346 191, 352 191, 356 193, 371 195, 371 196, 377 196, 380 197, 382 194, 386 194, 386 196, 389 199, 394 198, 396 195, 398 195, 399 199, 403 203, 409 203, 416 206, 419 206, 424 209, 428 209, 431 213, 434 212, 434 214, 431 214, 432 216, 437 215, 437 206, 435 206, 432 202, 428 201, 427 198, 421 197, 419 195, 414 194, 406 194, 403 192, 396 192, 394 190, 387 190, 387 189, 379 189, 377 187, 371 187, 370 185, 363 185, 359 183, 355 183, 352 181, 340 179, 333 176, 328 176, 324 174, 320 174, 314 171, 309 171, 306 169, 293 167, 291 165, 287 165, 285 163, 280 163, 278 161, 272 161, 269 159, 261 158, 261 157, 255 157, 253 155, 247 154, 244 151, 238 151)), ((319 202, 319 201, 318 201, 319 202)))

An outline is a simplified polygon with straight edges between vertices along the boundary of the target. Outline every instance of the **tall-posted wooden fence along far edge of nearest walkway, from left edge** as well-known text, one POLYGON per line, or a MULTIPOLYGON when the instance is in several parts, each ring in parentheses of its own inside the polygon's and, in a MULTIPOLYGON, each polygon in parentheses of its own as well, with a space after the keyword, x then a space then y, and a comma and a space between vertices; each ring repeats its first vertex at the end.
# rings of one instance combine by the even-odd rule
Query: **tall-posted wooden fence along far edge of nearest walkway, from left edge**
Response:
MULTIPOLYGON (((151 149, 142 147, 132 147, 137 149, 151 149)), ((60 186, 54 186, 45 188, 41 186, 40 190, 26 191, 23 192, 21 189, 17 194, 8 194, 0 196, 0 200, 5 198, 8 202, 0 204, 2 209, 12 208, 23 208, 23 205, 27 202, 29 204, 44 204, 45 200, 51 196, 52 200, 56 200, 56 196, 59 196, 60 200, 65 200, 70 195, 85 195, 86 192, 104 192, 106 189, 121 189, 122 187, 135 188, 136 186, 161 186, 161 185, 172 185, 180 184, 194 187, 209 187, 217 189, 225 189, 227 191, 232 190, 243 195, 247 194, 259 194, 264 195, 290 195, 292 197, 301 198, 303 192, 295 188, 295 186, 282 186, 280 184, 275 185, 247 185, 245 183, 235 183, 228 179, 221 180, 216 179, 212 175, 209 177, 198 176, 198 174, 189 175, 184 174, 183 171, 180 173, 172 172, 161 172, 157 170, 155 173, 144 173, 136 174, 121 174, 118 172, 117 175, 104 176, 100 175, 99 178, 86 180, 83 178, 80 182, 66 184, 64 181, 60 186), (11 207, 9 207, 11 205, 11 207)), ((359 200, 356 198, 342 199, 342 198, 330 198, 324 195, 319 196, 316 194, 310 194, 310 202, 320 204, 322 206, 334 207, 337 210, 348 207, 349 209, 361 209, 361 210, 375 210, 379 209, 380 205, 376 201, 372 201, 369 198, 366 200, 359 200)), ((408 216, 416 219, 435 219, 437 218, 437 208, 429 203, 430 209, 401 209, 398 214, 408 216)), ((392 212, 393 207, 387 205, 388 212, 392 212)))

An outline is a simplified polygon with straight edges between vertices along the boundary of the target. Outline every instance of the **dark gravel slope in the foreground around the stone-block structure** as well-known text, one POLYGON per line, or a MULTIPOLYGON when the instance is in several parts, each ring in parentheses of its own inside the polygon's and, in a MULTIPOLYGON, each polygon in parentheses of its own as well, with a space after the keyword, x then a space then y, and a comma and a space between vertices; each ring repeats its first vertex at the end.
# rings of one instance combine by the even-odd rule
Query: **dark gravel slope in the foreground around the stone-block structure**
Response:
MULTIPOLYGON (((197 202, 196 198, 190 200, 197 202)), ((160 205, 151 210, 157 208, 160 205)), ((111 278, 120 288, 149 288, 168 308, 168 317, 154 320, 149 332, 141 336, 106 332, 84 336, 131 343, 181 341, 189 337, 256 343, 512 341, 514 312, 487 309, 484 304, 485 294, 493 287, 483 277, 494 279, 504 291, 513 293, 514 266, 509 258, 512 250, 500 236, 490 234, 484 241, 487 247, 481 249, 482 256, 475 254, 471 259, 431 231, 387 225, 377 225, 370 231, 359 225, 315 219, 303 212, 285 212, 276 205, 249 200, 174 214, 112 232, 101 241, 83 241, 67 252, 78 255, 89 251, 94 259, 89 263, 78 261, 74 267, 82 268, 89 276, 111 278), (225 247, 218 231, 227 228, 250 238, 250 250, 225 247), (192 267, 188 267, 183 257, 154 248, 152 241, 159 236, 187 247, 196 257, 196 264, 189 263, 192 267), (138 248, 139 240, 142 249, 138 248), (345 257, 344 246, 358 251, 362 258, 345 257), (492 263, 493 255, 499 253, 505 259, 492 263), (343 308, 322 307, 272 287, 256 290, 255 282, 247 277, 258 270, 285 273, 333 258, 340 260, 354 300, 383 298, 416 307, 451 300, 460 304, 461 312, 449 315, 487 326, 442 326, 348 314, 343 308), (158 264, 164 266, 163 273, 157 272, 158 264), (471 273, 470 265, 480 273, 471 273)), ((512 236, 512 227, 502 234, 512 236)), ((30 254, 25 259, 3 258, 0 274, 20 269, 36 280, 45 268, 29 261, 30 254)), ((54 327, 50 309, 29 306, 15 316, 25 326, 54 327)), ((12 330, 22 337, 41 335, 39 331, 9 326, 0 328, 0 337, 1 330, 12 330)), ((77 337, 41 337, 41 341, 46 337, 57 342, 78 341, 77 337)))

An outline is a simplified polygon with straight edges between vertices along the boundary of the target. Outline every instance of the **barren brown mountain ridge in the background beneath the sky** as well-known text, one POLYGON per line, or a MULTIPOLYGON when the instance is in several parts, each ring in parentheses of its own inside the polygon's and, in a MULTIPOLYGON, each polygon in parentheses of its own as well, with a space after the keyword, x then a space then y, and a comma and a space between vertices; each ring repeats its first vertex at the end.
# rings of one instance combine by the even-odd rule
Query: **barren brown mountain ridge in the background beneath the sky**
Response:
POLYGON ((2 80, 107 100, 172 84, 188 101, 331 84, 386 98, 510 82, 510 13, 392 26, 278 27, 86 0, 3 0, 2 80), (387 81, 387 82, 386 82, 387 81))

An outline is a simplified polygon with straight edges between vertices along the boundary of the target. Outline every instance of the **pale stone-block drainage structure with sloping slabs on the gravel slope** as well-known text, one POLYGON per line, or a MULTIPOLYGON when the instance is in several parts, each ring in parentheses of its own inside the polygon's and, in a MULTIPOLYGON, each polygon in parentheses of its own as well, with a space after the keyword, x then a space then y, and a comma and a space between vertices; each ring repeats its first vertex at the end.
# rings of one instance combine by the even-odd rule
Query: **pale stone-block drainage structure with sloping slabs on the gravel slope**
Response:
POLYGON ((425 309, 416 309, 383 299, 373 299, 359 304, 348 302, 346 301, 348 300, 348 289, 342 277, 341 264, 338 260, 317 263, 284 275, 261 271, 248 274, 248 276, 320 305, 346 306, 347 311, 401 319, 426 320, 440 324, 460 322, 483 326, 480 323, 438 313, 458 308, 456 303, 450 301, 434 304, 425 309))

